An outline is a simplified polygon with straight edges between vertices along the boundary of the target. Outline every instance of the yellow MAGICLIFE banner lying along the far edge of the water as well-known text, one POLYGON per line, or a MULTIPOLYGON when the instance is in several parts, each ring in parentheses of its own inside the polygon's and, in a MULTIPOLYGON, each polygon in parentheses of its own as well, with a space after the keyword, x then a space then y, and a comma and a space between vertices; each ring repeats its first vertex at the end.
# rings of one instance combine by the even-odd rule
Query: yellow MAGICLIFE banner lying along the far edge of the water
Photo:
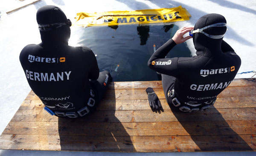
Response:
POLYGON ((145 9, 136 11, 113 11, 76 14, 77 26, 114 26, 119 24, 166 23, 189 20, 189 12, 178 6, 176 8, 145 9))

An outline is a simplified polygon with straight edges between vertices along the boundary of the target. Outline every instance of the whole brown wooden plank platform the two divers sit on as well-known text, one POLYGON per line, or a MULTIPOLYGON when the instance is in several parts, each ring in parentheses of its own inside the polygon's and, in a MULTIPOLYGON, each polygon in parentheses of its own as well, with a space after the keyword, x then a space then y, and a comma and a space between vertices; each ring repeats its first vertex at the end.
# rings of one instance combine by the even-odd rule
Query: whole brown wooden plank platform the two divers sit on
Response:
POLYGON ((256 151, 256 79, 235 79, 214 105, 175 113, 161 81, 115 82, 88 118, 50 116, 30 92, 0 136, 0 149, 116 152, 256 151), (153 87, 163 110, 153 112, 153 87))

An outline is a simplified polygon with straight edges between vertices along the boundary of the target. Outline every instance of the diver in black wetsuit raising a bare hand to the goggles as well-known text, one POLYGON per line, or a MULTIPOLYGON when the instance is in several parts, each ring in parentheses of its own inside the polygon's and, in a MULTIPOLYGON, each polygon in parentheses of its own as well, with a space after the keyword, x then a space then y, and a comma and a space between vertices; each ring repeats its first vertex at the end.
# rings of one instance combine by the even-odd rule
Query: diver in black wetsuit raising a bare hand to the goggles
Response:
POLYGON ((166 101, 171 107, 183 112, 205 110, 235 78, 241 59, 222 40, 226 23, 220 14, 204 15, 195 28, 179 29, 148 60, 148 66, 161 73, 166 101), (187 32, 192 36, 183 38, 187 32), (165 58, 176 44, 189 38, 193 38, 196 56, 165 58))

